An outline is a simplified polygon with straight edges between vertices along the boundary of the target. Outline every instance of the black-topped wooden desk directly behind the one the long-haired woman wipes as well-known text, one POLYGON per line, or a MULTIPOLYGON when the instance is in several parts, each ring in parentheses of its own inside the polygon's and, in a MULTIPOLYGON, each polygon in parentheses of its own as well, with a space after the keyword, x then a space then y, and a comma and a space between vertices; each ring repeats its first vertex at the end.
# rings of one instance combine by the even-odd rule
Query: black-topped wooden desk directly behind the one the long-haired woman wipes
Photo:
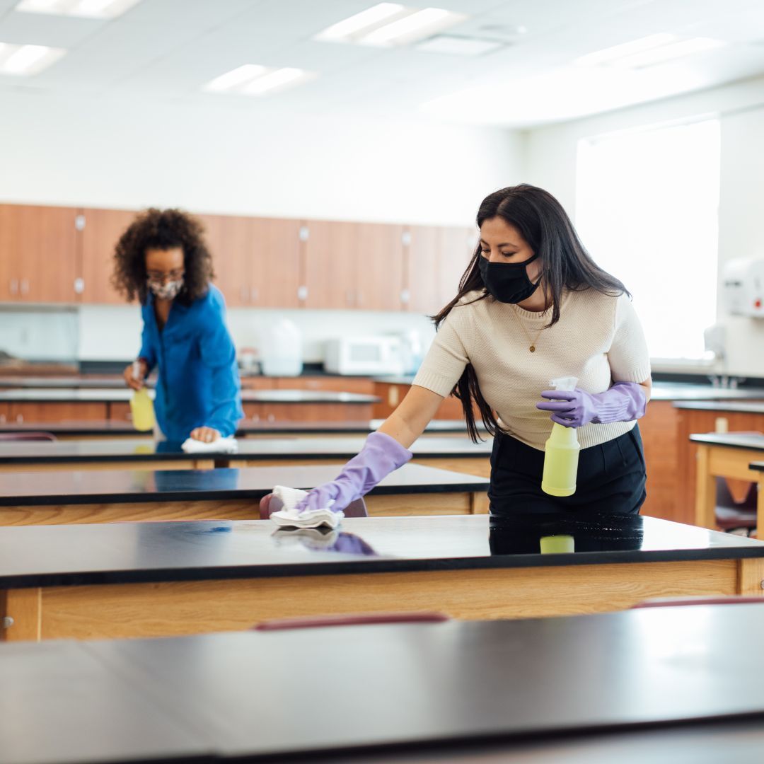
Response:
MULTIPOLYGON (((335 463, 0 474, 0 525, 257 519, 258 502, 274 485, 312 488, 332 481, 341 469, 335 463)), ((487 490, 486 478, 403 465, 365 501, 374 515, 468 514, 487 511, 487 490)))

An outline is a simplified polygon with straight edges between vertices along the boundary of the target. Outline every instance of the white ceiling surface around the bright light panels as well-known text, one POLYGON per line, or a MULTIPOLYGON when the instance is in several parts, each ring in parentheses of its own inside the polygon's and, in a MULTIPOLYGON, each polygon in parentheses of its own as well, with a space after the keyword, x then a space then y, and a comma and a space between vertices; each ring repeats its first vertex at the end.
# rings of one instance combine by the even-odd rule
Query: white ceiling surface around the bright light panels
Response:
POLYGON ((317 112, 410 118, 422 115, 425 102, 477 89, 463 100, 462 113, 448 119, 523 127, 764 73, 764 0, 406 2, 469 16, 448 34, 506 43, 474 58, 311 39, 376 0, 141 0, 112 21, 21 13, 14 10, 17 2, 0 0, 0 42, 69 52, 36 76, 0 76, 0 111, 4 93, 22 90, 208 105, 225 99, 234 108, 297 118, 317 112), (570 66, 584 53, 656 32, 729 44, 650 67, 637 79, 627 72, 616 82, 580 79, 570 66), (210 79, 243 63, 298 66, 319 76, 259 99, 201 92, 210 79), (560 97, 560 75, 574 98, 560 97))

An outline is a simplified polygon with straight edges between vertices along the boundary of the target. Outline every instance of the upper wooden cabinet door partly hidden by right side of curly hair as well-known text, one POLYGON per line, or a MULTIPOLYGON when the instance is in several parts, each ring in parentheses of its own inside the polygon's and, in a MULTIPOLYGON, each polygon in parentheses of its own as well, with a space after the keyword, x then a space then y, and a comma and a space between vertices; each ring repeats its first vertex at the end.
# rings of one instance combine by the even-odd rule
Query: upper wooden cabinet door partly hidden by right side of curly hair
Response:
POLYGON ((212 253, 215 286, 229 307, 251 305, 251 218, 236 215, 197 215, 205 227, 212 253))

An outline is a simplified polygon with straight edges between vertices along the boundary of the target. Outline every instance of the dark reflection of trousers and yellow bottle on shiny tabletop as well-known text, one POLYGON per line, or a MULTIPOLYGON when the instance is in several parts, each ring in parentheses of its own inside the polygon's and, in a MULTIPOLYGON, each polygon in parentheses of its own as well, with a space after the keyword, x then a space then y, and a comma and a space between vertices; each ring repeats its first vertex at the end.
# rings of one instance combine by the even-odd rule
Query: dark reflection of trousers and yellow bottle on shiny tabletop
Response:
POLYGON ((639 515, 521 514, 491 516, 492 555, 562 554, 642 549, 639 515))

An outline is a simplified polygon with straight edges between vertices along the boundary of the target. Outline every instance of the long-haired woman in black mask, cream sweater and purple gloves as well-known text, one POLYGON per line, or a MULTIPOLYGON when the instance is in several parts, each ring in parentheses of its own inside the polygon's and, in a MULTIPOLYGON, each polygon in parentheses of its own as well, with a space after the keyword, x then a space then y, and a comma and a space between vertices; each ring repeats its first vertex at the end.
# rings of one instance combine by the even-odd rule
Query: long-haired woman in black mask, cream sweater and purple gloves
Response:
POLYGON ((490 511, 639 513, 645 461, 636 419, 651 380, 630 294, 592 260, 551 194, 520 185, 487 196, 480 244, 410 392, 332 483, 297 509, 342 510, 411 458, 443 398, 461 400, 478 440, 475 409, 494 435, 490 511), (550 380, 577 377, 571 391, 550 380), (551 416, 550 416, 551 413, 551 416), (550 421, 551 419, 551 421, 550 421), (575 494, 542 492, 552 422, 578 429, 575 494))

